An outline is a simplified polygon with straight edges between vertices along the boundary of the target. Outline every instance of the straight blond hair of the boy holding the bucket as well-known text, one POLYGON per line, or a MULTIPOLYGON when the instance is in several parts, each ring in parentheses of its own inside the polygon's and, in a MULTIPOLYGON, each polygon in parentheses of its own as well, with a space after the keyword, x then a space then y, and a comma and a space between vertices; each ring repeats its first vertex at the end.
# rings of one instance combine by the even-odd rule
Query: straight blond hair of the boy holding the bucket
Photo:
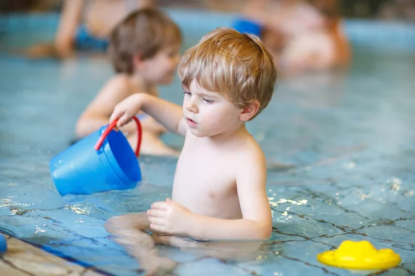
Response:
POLYGON ((257 99, 260 106, 253 119, 273 97, 277 69, 258 37, 217 28, 185 52, 178 77, 185 90, 196 80, 207 90, 223 93, 238 108, 257 99))

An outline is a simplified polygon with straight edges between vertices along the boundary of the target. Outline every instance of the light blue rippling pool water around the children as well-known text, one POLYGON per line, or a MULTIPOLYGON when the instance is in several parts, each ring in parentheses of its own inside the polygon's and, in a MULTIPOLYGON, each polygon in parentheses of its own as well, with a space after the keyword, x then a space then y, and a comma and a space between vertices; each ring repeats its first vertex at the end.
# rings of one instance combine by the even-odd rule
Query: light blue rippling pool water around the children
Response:
MULTIPOLYGON (((199 39, 184 31, 186 46, 199 39)), ((268 108, 248 124, 271 164, 293 165, 268 171, 270 241, 234 262, 164 248, 179 263, 176 275, 349 275, 316 259, 345 239, 400 254, 400 266, 382 275, 415 274, 415 54, 367 45, 354 44, 345 72, 279 79, 268 108)), ((60 197, 48 167, 112 74, 100 57, 0 55, 0 231, 127 276, 140 266, 109 239, 104 221, 169 196, 176 159, 141 157, 141 186, 87 196, 60 197)), ((181 104, 178 79, 160 95, 181 104)), ((183 144, 174 135, 163 139, 183 144)))

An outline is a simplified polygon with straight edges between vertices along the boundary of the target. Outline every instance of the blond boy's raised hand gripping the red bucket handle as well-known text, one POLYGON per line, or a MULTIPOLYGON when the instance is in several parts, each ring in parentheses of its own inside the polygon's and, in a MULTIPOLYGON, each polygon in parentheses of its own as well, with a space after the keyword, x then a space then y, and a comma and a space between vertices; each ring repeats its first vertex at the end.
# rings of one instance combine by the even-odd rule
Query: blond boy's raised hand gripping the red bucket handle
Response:
POLYGON ((118 119, 117 126, 121 127, 136 116, 142 106, 142 95, 140 94, 132 95, 127 99, 124 99, 124 101, 118 103, 114 108, 111 117, 109 117, 109 122, 111 123, 112 121, 118 119))

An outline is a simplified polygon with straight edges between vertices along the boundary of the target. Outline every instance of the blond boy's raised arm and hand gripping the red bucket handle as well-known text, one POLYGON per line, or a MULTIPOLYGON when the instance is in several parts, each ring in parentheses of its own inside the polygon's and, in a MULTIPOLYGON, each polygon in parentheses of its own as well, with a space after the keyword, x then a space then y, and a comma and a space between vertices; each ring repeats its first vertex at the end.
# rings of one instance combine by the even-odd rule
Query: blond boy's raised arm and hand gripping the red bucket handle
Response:
POLYGON ((118 119, 117 126, 122 127, 140 110, 156 119, 170 132, 185 136, 187 124, 181 106, 144 93, 131 95, 118 103, 109 121, 118 119))

